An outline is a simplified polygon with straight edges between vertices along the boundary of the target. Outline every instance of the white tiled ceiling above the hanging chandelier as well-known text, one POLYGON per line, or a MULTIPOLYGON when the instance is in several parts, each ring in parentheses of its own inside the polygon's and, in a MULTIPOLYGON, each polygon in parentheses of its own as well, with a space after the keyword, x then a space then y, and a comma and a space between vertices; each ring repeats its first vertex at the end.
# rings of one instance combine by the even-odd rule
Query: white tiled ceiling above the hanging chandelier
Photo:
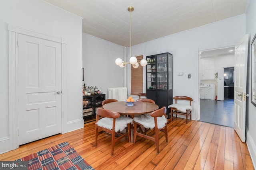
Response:
POLYGON ((122 46, 200 27, 246 12, 250 0, 44 0, 83 19, 83 32, 122 46))

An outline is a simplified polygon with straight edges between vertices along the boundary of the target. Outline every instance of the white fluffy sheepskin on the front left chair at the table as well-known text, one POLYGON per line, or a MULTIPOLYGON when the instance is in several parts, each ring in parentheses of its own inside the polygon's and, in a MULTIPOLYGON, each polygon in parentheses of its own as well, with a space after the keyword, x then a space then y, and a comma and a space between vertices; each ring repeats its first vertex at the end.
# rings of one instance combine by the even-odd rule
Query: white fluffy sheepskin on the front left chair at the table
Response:
MULTIPOLYGON (((115 132, 124 130, 127 127, 128 123, 132 123, 132 118, 125 116, 120 116, 116 118, 115 132)), ((113 118, 103 117, 96 124, 100 127, 111 130, 113 126, 113 118)))

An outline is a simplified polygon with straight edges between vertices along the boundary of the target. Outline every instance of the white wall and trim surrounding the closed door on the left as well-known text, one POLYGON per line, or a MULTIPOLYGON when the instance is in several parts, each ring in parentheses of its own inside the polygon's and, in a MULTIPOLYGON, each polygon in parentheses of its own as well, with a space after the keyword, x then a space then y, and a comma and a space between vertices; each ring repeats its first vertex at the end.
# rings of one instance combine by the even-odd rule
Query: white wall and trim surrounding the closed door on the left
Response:
POLYGON ((67 40, 67 122, 65 131, 83 127, 82 18, 41 0, 0 0, 0 153, 9 147, 8 23, 67 40))

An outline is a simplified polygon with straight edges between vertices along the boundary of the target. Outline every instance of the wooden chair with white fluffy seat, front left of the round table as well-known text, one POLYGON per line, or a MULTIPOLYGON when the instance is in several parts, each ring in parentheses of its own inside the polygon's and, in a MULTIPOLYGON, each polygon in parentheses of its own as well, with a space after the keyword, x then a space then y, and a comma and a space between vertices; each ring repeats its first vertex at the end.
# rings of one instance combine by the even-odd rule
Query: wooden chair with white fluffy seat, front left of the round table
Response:
POLYGON ((114 145, 117 141, 125 136, 128 136, 129 143, 131 142, 131 123, 132 118, 120 116, 120 113, 102 108, 96 110, 95 123, 95 146, 97 146, 98 135, 105 133, 111 138, 111 156, 114 155, 114 145), (103 117, 99 119, 99 116, 103 117), (122 131, 128 127, 128 131, 122 131))

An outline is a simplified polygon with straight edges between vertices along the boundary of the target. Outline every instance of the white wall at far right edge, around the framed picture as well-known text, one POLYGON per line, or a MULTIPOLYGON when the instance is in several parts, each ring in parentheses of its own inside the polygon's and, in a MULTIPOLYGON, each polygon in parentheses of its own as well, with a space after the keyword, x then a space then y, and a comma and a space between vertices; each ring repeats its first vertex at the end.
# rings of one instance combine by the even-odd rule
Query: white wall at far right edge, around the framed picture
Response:
POLYGON ((249 34, 249 52, 248 52, 248 69, 247 69, 247 94, 249 98, 246 101, 246 143, 256 168, 256 107, 251 103, 251 82, 252 82, 252 68, 251 68, 251 53, 250 44, 256 33, 256 1, 251 0, 246 14, 246 33, 249 34))

